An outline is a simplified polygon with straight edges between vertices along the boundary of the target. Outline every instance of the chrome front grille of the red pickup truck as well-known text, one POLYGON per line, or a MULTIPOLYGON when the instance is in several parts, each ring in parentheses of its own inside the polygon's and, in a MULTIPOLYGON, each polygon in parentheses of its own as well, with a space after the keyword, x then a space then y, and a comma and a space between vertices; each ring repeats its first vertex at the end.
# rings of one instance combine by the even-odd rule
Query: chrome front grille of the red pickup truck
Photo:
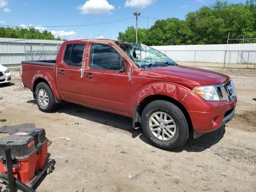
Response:
POLYGON ((236 97, 236 92, 233 82, 229 81, 224 84, 214 86, 218 92, 221 101, 232 102, 236 97))

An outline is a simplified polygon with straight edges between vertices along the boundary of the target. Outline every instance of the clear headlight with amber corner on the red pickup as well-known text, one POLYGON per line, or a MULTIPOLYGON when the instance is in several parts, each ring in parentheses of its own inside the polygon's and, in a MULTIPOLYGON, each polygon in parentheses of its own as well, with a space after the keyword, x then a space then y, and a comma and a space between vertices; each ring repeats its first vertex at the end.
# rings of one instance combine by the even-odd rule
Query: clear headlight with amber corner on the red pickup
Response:
POLYGON ((192 91, 207 101, 219 101, 220 97, 214 86, 195 86, 192 91))

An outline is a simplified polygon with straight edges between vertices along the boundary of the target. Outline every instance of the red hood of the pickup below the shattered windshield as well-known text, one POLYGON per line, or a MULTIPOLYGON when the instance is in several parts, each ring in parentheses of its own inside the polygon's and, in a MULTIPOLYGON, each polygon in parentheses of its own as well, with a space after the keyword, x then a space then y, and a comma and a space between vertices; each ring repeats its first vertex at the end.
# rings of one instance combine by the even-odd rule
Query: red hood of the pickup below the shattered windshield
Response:
POLYGON ((148 68, 148 71, 157 76, 161 76, 161 79, 167 81, 179 82, 184 85, 187 84, 186 86, 190 84, 188 87, 197 85, 217 85, 230 80, 229 76, 222 73, 182 65, 148 68))

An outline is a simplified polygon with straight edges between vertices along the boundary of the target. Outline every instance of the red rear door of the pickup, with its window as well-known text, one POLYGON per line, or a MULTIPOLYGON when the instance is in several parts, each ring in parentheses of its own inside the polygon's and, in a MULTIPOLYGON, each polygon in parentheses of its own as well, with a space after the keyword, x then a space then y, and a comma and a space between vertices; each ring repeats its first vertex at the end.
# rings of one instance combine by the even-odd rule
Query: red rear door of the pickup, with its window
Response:
POLYGON ((64 60, 59 59, 60 61, 57 63, 57 88, 60 96, 64 99, 84 102, 84 81, 81 78, 81 65, 86 44, 87 42, 84 46, 73 44, 75 46, 71 46, 71 48, 70 45, 66 45, 64 60), (72 49, 72 52, 69 49, 72 49), (68 54, 70 54, 69 58, 66 57, 68 54))

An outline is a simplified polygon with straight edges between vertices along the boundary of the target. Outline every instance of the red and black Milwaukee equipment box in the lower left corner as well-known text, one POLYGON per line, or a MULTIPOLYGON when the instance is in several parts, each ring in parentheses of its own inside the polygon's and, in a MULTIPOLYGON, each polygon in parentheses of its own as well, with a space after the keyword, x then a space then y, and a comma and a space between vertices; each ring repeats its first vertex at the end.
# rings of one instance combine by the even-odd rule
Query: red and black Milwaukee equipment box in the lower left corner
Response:
POLYGON ((4 148, 10 146, 14 176, 28 184, 46 164, 47 144, 45 131, 40 128, 20 129, 0 139, 0 172, 7 172, 4 148))

